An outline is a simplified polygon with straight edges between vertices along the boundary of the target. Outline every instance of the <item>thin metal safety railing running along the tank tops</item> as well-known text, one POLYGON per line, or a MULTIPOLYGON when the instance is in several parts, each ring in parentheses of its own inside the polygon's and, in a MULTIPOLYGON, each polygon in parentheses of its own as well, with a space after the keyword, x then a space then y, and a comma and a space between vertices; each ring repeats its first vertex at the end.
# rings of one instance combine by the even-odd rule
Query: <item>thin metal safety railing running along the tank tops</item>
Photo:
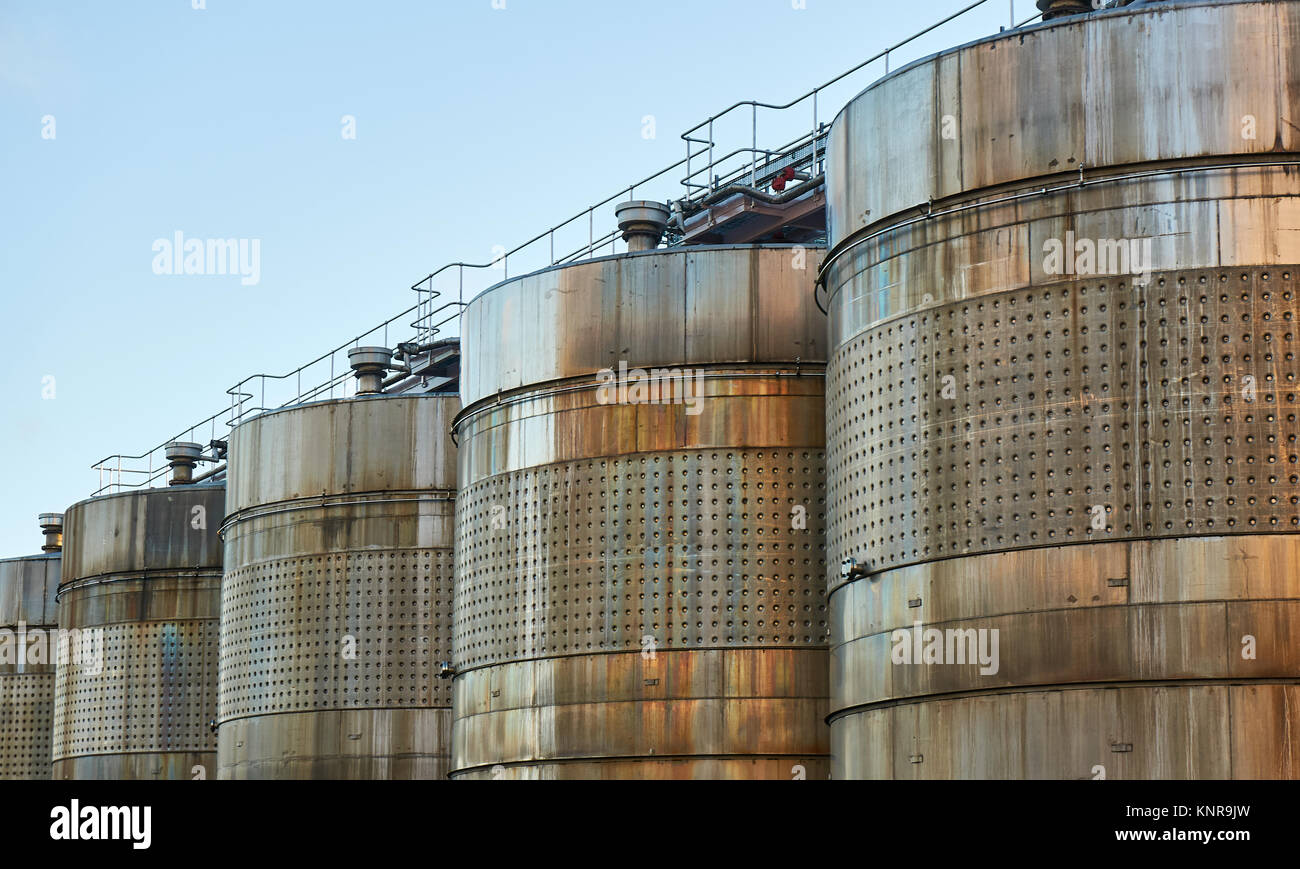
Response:
MULTIPOLYGON (((218 420, 222 425, 233 428, 252 415, 270 410, 280 410, 311 401, 350 398, 355 395, 356 385, 351 366, 346 358, 347 350, 367 346, 372 340, 373 343, 385 347, 393 346, 390 342, 390 328, 412 314, 415 314, 415 320, 407 323, 406 327, 413 330, 415 337, 412 342, 421 347, 438 341, 442 333, 445 330, 450 333, 452 327, 455 327, 455 334, 459 336, 459 320, 467 304, 465 299, 473 298, 473 295, 477 295, 477 293, 489 286, 510 278, 512 265, 514 273, 517 276, 542 268, 576 263, 582 259, 603 255, 604 252, 618 254, 621 233, 616 228, 618 221, 614 217, 614 208, 623 202, 637 199, 638 190, 642 190, 642 199, 672 203, 673 222, 670 224, 667 239, 667 243, 672 246, 681 239, 685 217, 698 211, 706 199, 722 190, 738 186, 762 189, 771 183, 776 174, 788 168, 793 168, 796 172, 803 170, 805 176, 812 180, 824 176, 826 146, 829 130, 820 112, 828 90, 848 85, 874 64, 880 64, 881 61, 884 62, 884 73, 888 74, 890 60, 902 49, 913 47, 923 36, 966 17, 975 9, 1000 1, 1008 4, 1010 12, 1008 22, 1011 29, 1022 27, 1041 17, 1041 13, 1037 13, 1020 22, 1015 20, 1017 1, 1023 7, 1024 4, 1032 4, 1034 0, 976 0, 789 103, 774 104, 757 100, 736 103, 686 130, 681 135, 686 143, 686 155, 672 165, 664 167, 659 172, 646 176, 627 187, 620 187, 614 195, 589 206, 568 220, 550 226, 511 250, 498 248, 493 251, 491 259, 488 263, 456 261, 443 265, 411 286, 411 290, 417 294, 416 304, 289 373, 256 373, 243 379, 226 390, 226 394, 230 397, 230 405, 226 408, 187 429, 190 434, 188 440, 192 440, 195 432, 204 425, 212 427, 213 440, 216 440, 218 420), (759 112, 763 111, 775 113, 777 117, 788 117, 788 113, 800 107, 811 112, 811 126, 805 127, 803 131, 786 129, 788 140, 784 144, 759 147, 759 112), (719 156, 719 151, 722 151, 716 140, 719 126, 727 118, 745 109, 749 109, 748 140, 719 156), (701 131, 706 131, 707 138, 699 138, 697 134, 701 131), (790 135, 793 138, 789 138, 790 135), (697 150, 693 146, 699 147, 697 150), (706 156, 707 160, 702 165, 698 164, 698 160, 706 156), (672 176, 682 167, 686 169, 685 177, 675 180, 672 176), (705 181, 699 181, 701 176, 705 177, 705 181), (647 195, 645 193, 647 189, 651 189, 654 193, 647 195), (612 225, 615 229, 598 235, 598 225, 612 225), (455 302, 447 301, 439 304, 441 299, 450 299, 452 297, 455 302), (304 380, 307 381, 306 386, 303 385, 304 380), (222 420, 222 418, 225 419, 222 420)), ((919 57, 913 57, 911 60, 916 59, 919 57)), ((766 117, 763 116, 764 122, 766 117)), ((780 134, 774 134, 774 138, 780 138, 780 134)), ((168 438, 168 441, 142 455, 110 455, 96 462, 92 470, 100 472, 100 488, 95 494, 142 488, 162 479, 169 471, 164 450, 166 444, 176 440, 186 440, 185 433, 182 432, 177 437, 168 438), (108 477, 107 484, 104 481, 105 476, 108 477), (124 481, 124 479, 130 477, 139 477, 139 481, 124 481)))

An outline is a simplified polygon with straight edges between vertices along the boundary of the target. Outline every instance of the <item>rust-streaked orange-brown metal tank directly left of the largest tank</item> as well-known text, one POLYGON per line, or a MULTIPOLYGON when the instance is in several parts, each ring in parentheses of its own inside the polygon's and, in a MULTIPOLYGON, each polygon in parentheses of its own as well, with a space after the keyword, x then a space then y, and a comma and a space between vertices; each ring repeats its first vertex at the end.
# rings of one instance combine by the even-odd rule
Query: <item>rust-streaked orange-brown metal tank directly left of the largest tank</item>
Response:
POLYGON ((465 310, 455 778, 826 778, 820 250, 465 310))

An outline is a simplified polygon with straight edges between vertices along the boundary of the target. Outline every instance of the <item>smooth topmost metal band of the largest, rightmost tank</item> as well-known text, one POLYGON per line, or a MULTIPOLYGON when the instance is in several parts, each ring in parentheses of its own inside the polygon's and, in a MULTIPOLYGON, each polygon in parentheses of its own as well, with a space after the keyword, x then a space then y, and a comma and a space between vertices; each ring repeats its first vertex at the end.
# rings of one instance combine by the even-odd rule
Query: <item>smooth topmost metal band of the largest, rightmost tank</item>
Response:
POLYGON ((1300 130, 1286 122, 1300 101, 1297 36, 1300 8, 1290 1, 1157 4, 914 64, 835 122, 832 246, 931 198, 1072 173, 1080 163, 1300 151, 1300 130), (1214 62, 1196 60, 1206 57, 1214 62))

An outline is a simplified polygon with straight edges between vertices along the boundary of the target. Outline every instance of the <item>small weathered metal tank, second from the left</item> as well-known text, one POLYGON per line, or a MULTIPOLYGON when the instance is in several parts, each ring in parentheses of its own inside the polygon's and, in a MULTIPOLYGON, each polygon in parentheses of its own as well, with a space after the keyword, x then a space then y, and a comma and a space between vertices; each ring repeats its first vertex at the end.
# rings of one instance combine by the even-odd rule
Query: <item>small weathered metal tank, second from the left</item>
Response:
POLYGON ((58 627, 56 779, 216 773, 217 618, 225 487, 177 485, 68 510, 58 627))

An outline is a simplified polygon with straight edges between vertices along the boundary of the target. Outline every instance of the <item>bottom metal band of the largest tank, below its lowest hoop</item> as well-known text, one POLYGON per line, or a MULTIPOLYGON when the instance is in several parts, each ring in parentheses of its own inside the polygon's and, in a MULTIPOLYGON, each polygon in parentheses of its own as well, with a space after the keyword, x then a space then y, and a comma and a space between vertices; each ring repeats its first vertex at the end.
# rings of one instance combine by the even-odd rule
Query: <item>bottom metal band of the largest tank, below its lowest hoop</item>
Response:
POLYGON ((1295 684, 936 699, 835 721, 835 778, 1300 778, 1295 684))

